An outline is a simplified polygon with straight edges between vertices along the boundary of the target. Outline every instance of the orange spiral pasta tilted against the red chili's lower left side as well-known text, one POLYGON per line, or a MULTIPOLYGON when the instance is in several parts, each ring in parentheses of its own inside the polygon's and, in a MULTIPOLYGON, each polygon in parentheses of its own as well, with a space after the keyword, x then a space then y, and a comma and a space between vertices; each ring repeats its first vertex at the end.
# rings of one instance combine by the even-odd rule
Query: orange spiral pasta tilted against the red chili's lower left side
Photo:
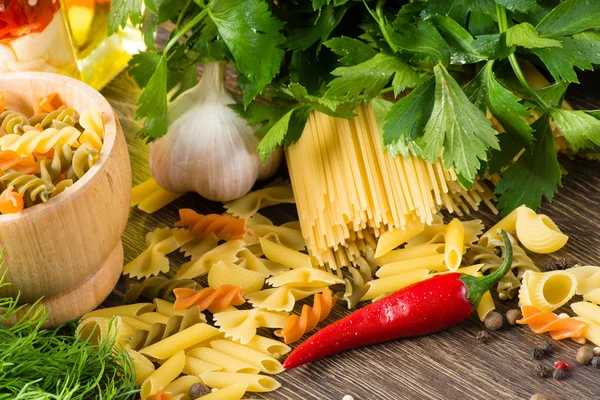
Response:
POLYGON ((331 295, 331 290, 325 288, 322 294, 315 294, 312 307, 305 304, 299 316, 290 315, 290 319, 288 319, 283 329, 275 331, 275 335, 282 337, 286 344, 294 343, 302 335, 315 329, 319 322, 327 318, 335 304, 335 300, 331 295))

